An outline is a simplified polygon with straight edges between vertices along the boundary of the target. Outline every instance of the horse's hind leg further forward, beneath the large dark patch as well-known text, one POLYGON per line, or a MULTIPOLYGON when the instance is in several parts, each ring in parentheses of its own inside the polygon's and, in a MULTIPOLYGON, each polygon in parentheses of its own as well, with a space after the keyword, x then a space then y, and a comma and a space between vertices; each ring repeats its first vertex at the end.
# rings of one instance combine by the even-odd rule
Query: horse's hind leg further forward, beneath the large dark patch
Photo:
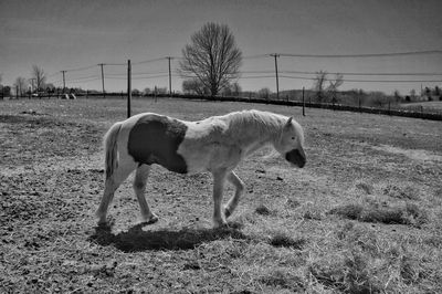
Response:
POLYGON ((141 221, 147 223, 154 223, 158 221, 158 217, 150 211, 150 208, 147 204, 145 198, 146 182, 147 182, 147 177, 149 176, 149 171, 150 171, 150 166, 148 165, 140 165, 137 168, 134 179, 134 190, 138 199, 139 208, 141 209, 141 221))

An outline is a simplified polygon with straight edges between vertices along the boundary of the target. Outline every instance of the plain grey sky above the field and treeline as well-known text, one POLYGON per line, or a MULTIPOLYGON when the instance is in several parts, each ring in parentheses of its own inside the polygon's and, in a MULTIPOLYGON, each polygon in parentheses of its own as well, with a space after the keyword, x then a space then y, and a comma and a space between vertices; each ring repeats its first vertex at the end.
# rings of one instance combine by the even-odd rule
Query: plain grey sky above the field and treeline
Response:
POLYGON ((233 33, 243 55, 243 91, 276 90, 272 53, 283 54, 280 91, 312 88, 318 71, 330 78, 343 73, 341 90, 408 94, 442 85, 441 0, 0 0, 1 83, 30 78, 38 65, 55 86, 66 71, 66 86, 101 90, 97 64, 105 63, 106 91, 120 92, 127 90, 130 60, 133 88, 168 87, 165 57, 172 56, 172 90, 181 91, 181 50, 207 22, 227 24, 233 33), (422 51, 439 53, 284 55, 422 51))

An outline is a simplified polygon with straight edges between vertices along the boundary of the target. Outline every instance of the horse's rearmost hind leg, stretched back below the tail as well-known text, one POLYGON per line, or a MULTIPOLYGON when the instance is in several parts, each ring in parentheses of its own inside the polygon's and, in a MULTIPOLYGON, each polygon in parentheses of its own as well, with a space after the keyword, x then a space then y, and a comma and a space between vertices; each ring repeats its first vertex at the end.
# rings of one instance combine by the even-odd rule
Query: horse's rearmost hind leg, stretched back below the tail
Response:
POLYGON ((131 171, 134 171, 136 165, 129 164, 118 167, 114 170, 114 174, 106 179, 104 195, 95 216, 98 218, 98 224, 106 223, 107 209, 114 199, 114 193, 116 189, 122 185, 122 182, 127 179, 131 171))

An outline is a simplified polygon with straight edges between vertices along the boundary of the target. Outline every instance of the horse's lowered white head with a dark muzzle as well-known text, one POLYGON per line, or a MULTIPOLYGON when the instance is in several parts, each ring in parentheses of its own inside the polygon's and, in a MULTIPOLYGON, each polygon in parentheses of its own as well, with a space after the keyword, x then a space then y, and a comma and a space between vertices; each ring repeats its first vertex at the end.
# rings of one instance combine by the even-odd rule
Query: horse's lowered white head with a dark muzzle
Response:
POLYGON ((288 118, 285 123, 278 140, 275 143, 275 149, 284 158, 299 168, 305 166, 306 156, 304 153, 304 132, 301 125, 288 118))

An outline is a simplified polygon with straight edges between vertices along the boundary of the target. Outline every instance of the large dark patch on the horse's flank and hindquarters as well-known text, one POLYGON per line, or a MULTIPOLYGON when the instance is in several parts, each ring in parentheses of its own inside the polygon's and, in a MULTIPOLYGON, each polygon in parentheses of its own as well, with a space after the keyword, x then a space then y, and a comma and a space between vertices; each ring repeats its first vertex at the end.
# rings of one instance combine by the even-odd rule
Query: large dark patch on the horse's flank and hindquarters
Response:
POLYGON ((188 127, 172 118, 145 115, 129 133, 128 153, 139 164, 164 166, 170 171, 186 174, 187 164, 177 153, 188 127))

